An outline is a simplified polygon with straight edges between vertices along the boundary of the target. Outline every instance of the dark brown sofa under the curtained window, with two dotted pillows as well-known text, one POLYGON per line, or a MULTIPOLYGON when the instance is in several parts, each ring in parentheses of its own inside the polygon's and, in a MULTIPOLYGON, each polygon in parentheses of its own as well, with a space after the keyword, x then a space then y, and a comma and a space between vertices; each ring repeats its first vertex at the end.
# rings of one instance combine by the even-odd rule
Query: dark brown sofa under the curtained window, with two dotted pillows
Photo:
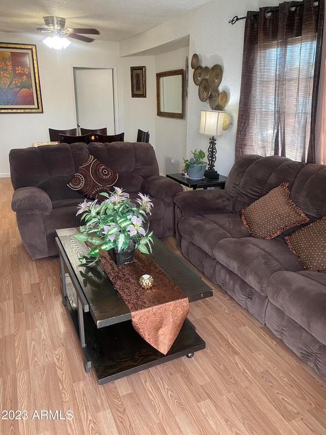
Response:
POLYGON ((282 182, 310 222, 326 215, 326 166, 243 156, 225 190, 175 196, 177 242, 189 261, 326 379, 326 273, 305 270, 287 246, 284 236, 298 227, 256 239, 239 215, 282 182))

